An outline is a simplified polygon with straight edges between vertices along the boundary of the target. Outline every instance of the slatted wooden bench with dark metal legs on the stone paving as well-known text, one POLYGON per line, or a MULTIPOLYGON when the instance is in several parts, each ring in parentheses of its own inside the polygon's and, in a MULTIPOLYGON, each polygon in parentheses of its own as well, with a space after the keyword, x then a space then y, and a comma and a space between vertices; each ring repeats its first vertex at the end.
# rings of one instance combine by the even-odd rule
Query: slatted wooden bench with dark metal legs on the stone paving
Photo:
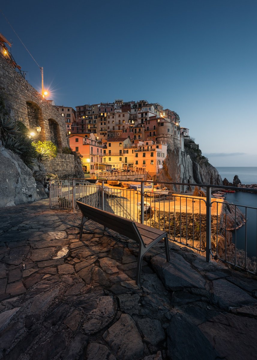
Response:
POLYGON ((110 212, 99 210, 95 207, 77 201, 77 205, 82 212, 80 228, 80 240, 82 238, 83 226, 86 221, 93 220, 104 226, 104 229, 112 229, 127 238, 135 240, 139 244, 137 258, 136 284, 140 286, 141 267, 145 253, 160 240, 164 239, 166 260, 170 261, 168 248, 168 234, 166 231, 151 228, 150 226, 125 219, 110 212))

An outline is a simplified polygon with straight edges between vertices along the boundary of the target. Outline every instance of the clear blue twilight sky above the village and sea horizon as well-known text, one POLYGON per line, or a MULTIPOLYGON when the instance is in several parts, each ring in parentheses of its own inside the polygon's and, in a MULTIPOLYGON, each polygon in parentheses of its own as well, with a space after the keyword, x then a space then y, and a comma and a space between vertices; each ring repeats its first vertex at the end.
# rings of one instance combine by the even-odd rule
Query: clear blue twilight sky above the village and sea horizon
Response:
MULTIPOLYGON (((15 0, 1 10, 57 105, 159 102, 212 165, 257 166, 256 0, 15 0)), ((1 12, 0 32, 41 91, 1 12)))

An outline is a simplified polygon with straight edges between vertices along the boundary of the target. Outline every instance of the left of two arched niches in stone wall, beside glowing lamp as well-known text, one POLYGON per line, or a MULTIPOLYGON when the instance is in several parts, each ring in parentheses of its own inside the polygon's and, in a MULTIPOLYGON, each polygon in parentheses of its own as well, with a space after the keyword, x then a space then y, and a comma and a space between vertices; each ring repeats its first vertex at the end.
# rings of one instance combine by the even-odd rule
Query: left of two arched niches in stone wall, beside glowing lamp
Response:
POLYGON ((39 140, 46 140, 45 138, 45 125, 40 107, 30 101, 26 102, 29 130, 39 132, 39 140))

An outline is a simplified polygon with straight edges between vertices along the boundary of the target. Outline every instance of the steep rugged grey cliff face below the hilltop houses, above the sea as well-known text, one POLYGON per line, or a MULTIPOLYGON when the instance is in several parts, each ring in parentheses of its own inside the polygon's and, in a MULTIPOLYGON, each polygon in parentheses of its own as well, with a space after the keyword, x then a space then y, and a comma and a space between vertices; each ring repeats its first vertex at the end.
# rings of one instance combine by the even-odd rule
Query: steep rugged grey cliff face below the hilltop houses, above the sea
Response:
POLYGON ((197 144, 185 147, 181 151, 178 145, 168 147, 163 170, 157 176, 158 181, 223 185, 221 176, 208 159, 202 156, 197 144))

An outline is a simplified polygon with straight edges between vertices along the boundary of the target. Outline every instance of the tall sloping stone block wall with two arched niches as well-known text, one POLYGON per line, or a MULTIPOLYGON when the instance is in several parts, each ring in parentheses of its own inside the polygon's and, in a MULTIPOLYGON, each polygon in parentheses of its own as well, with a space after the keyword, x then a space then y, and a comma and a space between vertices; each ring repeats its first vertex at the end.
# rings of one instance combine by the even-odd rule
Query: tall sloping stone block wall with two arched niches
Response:
POLYGON ((6 62, 1 53, 0 92, 8 100, 15 120, 31 130, 35 130, 37 125, 41 127, 39 140, 51 140, 59 149, 68 145, 64 118, 6 62))

